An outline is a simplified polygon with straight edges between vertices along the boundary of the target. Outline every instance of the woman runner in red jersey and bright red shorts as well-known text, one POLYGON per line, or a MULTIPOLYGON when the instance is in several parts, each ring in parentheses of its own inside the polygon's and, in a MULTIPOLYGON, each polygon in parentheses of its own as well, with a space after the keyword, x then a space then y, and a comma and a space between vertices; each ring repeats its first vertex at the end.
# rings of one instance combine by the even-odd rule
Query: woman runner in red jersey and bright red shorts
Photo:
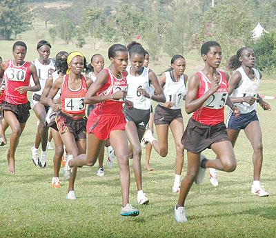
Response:
POLYGON ((111 65, 102 70, 96 81, 89 88, 85 103, 97 103, 92 110, 87 123, 88 151, 75 159, 68 159, 66 170, 75 166, 93 166, 99 157, 105 140, 110 138, 110 143, 115 150, 119 163, 121 192, 123 197, 121 215, 137 216, 139 210, 128 204, 130 169, 128 165, 128 140, 126 137, 123 103, 132 106, 129 101, 124 101, 127 94, 126 66, 128 66, 128 50, 125 46, 115 44, 108 50, 111 65))

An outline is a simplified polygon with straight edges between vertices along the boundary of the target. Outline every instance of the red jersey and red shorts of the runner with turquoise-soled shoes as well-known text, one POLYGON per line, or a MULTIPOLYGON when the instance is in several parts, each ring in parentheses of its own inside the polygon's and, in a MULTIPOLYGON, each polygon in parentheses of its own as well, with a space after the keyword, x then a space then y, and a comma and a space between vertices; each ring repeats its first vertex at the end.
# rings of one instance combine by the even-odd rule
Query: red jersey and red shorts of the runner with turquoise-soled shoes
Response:
MULTIPOLYGON (((108 81, 99 89, 97 96, 112 95, 119 90, 126 90, 126 72, 122 72, 122 78, 117 79, 109 69, 104 70, 108 73, 108 81)), ((123 103, 122 99, 97 103, 88 117, 87 132, 93 133, 100 140, 106 140, 112 130, 125 130, 123 103)))

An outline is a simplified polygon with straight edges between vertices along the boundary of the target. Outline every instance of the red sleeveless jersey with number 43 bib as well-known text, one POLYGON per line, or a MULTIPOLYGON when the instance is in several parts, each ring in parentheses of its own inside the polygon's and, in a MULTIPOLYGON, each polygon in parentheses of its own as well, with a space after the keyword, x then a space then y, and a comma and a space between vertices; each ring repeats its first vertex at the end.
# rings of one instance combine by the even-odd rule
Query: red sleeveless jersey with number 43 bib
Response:
POLYGON ((81 75, 81 87, 72 90, 68 85, 69 75, 64 75, 61 90, 61 110, 72 115, 82 115, 86 112, 84 97, 87 92, 86 79, 81 75))

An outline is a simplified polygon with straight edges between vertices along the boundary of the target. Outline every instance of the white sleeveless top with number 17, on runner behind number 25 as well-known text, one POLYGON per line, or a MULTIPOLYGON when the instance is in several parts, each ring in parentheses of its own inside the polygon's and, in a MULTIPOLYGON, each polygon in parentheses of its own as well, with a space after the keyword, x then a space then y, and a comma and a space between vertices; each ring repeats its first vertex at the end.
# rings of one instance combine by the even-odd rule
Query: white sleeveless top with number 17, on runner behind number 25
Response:
MULTIPOLYGON (((170 109, 177 110, 181 109, 184 101, 183 99, 186 95, 185 79, 184 75, 181 75, 178 82, 172 81, 170 72, 171 71, 164 72, 166 76, 166 82, 163 91, 164 95, 166 96, 166 101, 171 101, 172 103, 175 103, 175 106, 172 106, 170 109)), ((159 104, 161 106, 164 105, 164 103, 159 104)))

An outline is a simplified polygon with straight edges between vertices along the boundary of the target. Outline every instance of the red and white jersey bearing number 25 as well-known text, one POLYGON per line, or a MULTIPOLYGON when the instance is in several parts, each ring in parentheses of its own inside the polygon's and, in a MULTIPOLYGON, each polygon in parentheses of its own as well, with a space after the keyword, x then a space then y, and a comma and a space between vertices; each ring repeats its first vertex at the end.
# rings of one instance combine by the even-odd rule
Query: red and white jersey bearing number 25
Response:
MULTIPOLYGON (((193 119, 202 124, 214 126, 224 122, 224 106, 228 97, 228 81, 224 72, 218 71, 220 75, 220 88, 213 95, 210 95, 204 105, 193 112, 193 119)), ((200 79, 200 86, 197 92, 197 99, 204 95, 209 89, 211 82, 203 74, 196 72, 200 79)))

